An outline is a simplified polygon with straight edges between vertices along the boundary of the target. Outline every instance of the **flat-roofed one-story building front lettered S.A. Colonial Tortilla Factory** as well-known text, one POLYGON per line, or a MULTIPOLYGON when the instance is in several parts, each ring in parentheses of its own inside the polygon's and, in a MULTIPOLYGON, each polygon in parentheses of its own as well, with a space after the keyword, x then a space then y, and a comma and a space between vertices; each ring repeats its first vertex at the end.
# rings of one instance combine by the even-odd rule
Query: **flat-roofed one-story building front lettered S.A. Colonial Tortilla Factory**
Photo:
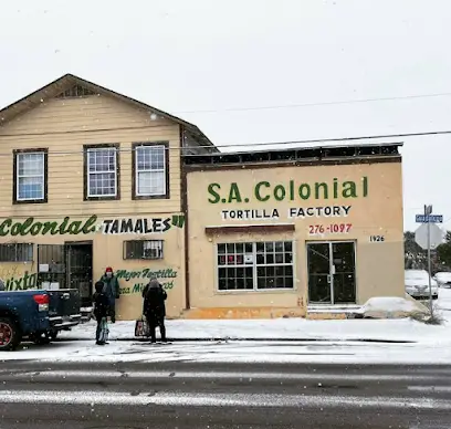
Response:
POLYGON ((405 296, 398 146, 187 157, 191 316, 405 296))

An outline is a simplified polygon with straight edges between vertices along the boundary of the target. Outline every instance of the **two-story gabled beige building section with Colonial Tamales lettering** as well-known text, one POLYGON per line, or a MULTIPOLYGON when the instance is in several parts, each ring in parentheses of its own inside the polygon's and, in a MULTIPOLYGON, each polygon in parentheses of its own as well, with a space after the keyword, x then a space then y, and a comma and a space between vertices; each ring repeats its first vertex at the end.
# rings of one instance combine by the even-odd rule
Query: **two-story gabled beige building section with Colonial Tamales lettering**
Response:
POLYGON ((80 287, 112 266, 118 318, 156 275, 186 305, 181 155, 217 151, 195 125, 74 75, 0 112, 0 279, 80 287))

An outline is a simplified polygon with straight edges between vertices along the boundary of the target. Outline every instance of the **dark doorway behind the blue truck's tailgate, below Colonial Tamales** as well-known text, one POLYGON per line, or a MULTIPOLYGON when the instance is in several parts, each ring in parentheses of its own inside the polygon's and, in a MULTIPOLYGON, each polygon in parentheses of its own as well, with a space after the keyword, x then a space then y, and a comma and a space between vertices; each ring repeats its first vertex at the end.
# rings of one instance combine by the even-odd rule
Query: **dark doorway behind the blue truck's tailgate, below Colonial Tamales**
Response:
POLYGON ((91 242, 66 243, 67 285, 80 291, 82 306, 91 305, 93 293, 93 244, 91 242))

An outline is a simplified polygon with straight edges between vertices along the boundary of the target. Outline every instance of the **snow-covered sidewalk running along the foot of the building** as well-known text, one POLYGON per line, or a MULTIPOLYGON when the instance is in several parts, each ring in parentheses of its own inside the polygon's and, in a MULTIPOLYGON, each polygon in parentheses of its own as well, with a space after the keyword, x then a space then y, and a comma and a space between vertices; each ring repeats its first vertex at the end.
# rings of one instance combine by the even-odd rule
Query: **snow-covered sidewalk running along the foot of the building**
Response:
MULTIPOLYGON (((167 321, 167 335, 171 341, 360 341, 360 342, 450 342, 451 325, 430 326, 411 320, 342 320, 307 321, 302 318, 276 320, 220 320, 167 321), (449 339, 448 339, 449 338, 449 339)), ((61 339, 86 341, 95 337, 95 322, 62 332, 61 339)), ((109 325, 112 341, 137 341, 135 322, 109 325)), ((157 328, 158 335, 158 328, 157 328)))

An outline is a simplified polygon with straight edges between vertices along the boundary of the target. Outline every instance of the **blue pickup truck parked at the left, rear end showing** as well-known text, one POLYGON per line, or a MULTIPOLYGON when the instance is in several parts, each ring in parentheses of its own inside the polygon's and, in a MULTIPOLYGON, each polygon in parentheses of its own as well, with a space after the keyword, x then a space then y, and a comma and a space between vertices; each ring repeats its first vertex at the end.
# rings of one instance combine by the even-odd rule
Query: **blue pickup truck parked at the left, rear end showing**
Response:
POLYGON ((0 292, 0 352, 13 350, 24 339, 50 343, 80 323, 80 305, 75 289, 0 292))

